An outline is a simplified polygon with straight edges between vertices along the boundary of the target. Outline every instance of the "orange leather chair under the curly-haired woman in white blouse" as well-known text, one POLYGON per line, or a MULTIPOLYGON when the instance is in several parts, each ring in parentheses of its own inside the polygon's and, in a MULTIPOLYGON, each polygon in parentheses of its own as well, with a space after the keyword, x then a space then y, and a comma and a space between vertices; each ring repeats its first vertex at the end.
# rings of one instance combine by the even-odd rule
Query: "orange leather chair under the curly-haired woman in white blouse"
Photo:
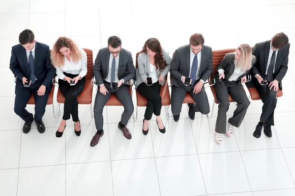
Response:
MULTIPOLYGON (((92 107, 92 92, 93 92, 93 86, 96 88, 96 85, 94 85, 94 79, 93 79, 93 56, 92 56, 92 50, 91 49, 84 49, 84 51, 87 54, 87 74, 85 75, 85 87, 81 94, 77 97, 79 104, 90 104, 90 115, 91 117, 94 116, 93 107, 92 107)), ((64 97, 61 94, 61 91, 59 89, 58 91, 58 115, 60 116, 60 108, 61 103, 64 103, 64 97)))

